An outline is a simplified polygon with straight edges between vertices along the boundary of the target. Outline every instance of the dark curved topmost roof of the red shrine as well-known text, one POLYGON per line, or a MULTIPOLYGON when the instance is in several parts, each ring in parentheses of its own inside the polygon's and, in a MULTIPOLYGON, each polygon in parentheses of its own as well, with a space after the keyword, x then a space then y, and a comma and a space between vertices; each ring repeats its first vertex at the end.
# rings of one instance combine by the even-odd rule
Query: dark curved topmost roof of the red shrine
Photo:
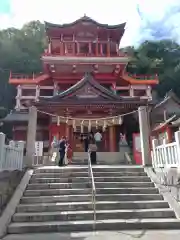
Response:
POLYGON ((92 23, 94 25, 97 25, 97 27, 100 28, 106 28, 106 29, 125 29, 125 25, 126 23, 121 23, 121 24, 117 24, 117 25, 108 25, 108 24, 102 24, 99 22, 96 22, 94 19, 84 15, 83 17, 77 19, 76 21, 72 22, 72 23, 66 23, 66 24, 54 24, 54 23, 50 23, 50 22, 45 22, 45 28, 49 29, 49 28, 68 28, 68 27, 72 27, 78 23, 82 23, 82 22, 89 22, 92 23))

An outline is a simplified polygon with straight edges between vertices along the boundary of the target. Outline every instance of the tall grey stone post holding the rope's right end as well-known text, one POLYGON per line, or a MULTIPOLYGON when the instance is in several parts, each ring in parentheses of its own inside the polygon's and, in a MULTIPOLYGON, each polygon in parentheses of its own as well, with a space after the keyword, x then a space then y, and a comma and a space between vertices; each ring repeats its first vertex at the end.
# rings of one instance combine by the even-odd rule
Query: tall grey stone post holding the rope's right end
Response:
POLYGON ((139 115, 142 165, 143 166, 152 165, 150 157, 150 126, 148 108, 146 106, 139 107, 138 115, 139 115))

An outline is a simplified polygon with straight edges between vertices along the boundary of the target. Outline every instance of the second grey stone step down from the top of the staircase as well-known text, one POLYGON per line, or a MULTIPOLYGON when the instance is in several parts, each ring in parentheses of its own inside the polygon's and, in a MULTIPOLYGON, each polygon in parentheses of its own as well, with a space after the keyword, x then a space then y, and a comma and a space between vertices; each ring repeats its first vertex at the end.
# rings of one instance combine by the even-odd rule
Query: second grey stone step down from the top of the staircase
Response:
MULTIPOLYGON (((147 176, 145 172, 94 172, 94 177, 124 177, 124 176, 147 176)), ((88 172, 62 172, 60 173, 34 173, 34 178, 67 178, 67 177, 88 177, 88 172)))

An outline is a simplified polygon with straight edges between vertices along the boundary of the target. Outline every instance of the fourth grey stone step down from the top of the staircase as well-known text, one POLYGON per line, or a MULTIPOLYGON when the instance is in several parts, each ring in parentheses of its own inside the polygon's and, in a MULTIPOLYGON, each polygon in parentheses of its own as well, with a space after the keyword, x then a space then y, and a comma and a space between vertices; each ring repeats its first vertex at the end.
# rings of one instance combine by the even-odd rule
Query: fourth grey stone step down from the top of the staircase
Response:
MULTIPOLYGON (((96 182, 97 188, 129 188, 129 187, 154 187, 153 182, 96 182)), ((89 182, 81 182, 81 183, 37 183, 37 184, 29 184, 28 190, 36 190, 36 189, 73 189, 73 188, 90 188, 91 183, 89 182)))

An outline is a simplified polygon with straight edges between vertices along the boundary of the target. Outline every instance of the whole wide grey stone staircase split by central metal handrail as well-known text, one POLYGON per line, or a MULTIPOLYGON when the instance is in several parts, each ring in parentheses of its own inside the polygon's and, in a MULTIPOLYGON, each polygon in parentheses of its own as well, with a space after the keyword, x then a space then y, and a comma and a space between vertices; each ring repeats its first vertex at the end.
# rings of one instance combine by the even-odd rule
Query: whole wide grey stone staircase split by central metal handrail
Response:
MULTIPOLYGON (((93 166, 96 230, 177 229, 168 203, 138 166, 93 166)), ((9 234, 93 230, 87 166, 36 169, 9 234)))

